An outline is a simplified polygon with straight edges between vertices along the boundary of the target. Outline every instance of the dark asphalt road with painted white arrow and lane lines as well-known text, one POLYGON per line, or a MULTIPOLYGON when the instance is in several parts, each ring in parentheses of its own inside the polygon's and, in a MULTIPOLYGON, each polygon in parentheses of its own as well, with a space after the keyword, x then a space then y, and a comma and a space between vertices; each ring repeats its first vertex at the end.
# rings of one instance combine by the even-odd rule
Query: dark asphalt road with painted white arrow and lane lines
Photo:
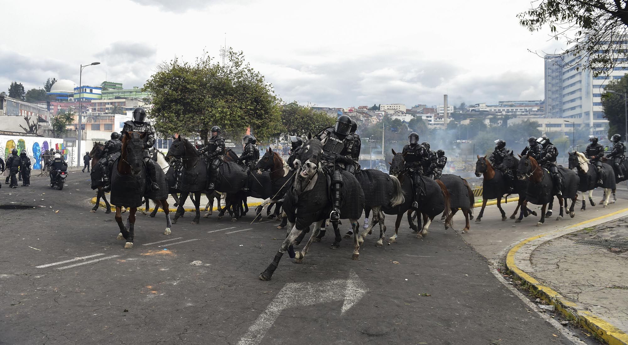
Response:
POLYGON ((328 234, 263 282, 275 221, 187 215, 166 236, 163 213, 138 215, 124 249, 86 176, 0 189, 0 344, 571 344, 440 222, 417 239, 404 221, 384 247, 371 235, 360 260, 328 234))

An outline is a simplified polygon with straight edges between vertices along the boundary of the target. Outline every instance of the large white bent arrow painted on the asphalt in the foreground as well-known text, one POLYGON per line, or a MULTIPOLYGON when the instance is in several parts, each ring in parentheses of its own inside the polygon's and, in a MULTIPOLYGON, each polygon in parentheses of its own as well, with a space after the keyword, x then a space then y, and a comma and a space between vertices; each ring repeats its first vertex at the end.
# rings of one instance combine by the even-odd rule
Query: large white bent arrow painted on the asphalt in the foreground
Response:
POLYGON ((279 290, 279 294, 266 307, 266 310, 257 317, 237 345, 259 344, 284 309, 342 300, 344 301, 342 312, 340 312, 342 315, 362 299, 367 291, 368 289, 365 287, 364 282, 353 271, 349 273, 349 278, 347 279, 288 283, 279 290))

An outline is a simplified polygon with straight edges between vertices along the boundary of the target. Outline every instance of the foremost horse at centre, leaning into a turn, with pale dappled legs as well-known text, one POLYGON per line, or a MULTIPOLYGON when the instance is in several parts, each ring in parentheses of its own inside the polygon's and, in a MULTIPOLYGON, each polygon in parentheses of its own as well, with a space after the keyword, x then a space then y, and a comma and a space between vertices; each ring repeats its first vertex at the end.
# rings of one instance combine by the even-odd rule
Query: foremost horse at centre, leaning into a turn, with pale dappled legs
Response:
MULTIPOLYGON (((288 233, 273 261, 264 272, 260 273, 259 279, 261 280, 271 280, 274 271, 279 265, 279 260, 281 260, 286 251, 290 253, 290 257, 295 258, 296 263, 303 262, 303 258, 308 252, 311 243, 318 235, 320 226, 332 211, 332 201, 329 198, 331 181, 327 171, 321 167, 322 152, 322 142, 312 138, 311 133, 308 134, 308 139, 303 143, 303 154, 301 155, 303 164, 300 164, 298 167, 295 181, 288 189, 288 194, 286 194, 284 201, 284 211, 288 216, 288 233), (312 223, 315 223, 315 226, 310 239, 301 252, 295 253, 293 242, 301 233, 305 233, 312 223)), ((352 258, 357 260, 360 256, 360 243, 357 235, 358 220, 364 210, 364 192, 353 174, 344 171, 342 179, 342 194, 344 198, 342 198, 340 206, 340 216, 342 219, 349 219, 352 224, 354 230, 354 252, 352 258)))

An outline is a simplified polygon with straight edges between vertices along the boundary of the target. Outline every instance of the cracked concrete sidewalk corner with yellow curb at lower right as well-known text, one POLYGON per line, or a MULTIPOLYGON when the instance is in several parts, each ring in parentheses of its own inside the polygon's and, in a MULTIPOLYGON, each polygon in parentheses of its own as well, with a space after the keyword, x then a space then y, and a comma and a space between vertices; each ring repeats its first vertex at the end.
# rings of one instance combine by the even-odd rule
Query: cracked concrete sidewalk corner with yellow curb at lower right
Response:
POLYGON ((533 236, 507 255, 507 266, 610 345, 628 344, 628 209, 533 236))

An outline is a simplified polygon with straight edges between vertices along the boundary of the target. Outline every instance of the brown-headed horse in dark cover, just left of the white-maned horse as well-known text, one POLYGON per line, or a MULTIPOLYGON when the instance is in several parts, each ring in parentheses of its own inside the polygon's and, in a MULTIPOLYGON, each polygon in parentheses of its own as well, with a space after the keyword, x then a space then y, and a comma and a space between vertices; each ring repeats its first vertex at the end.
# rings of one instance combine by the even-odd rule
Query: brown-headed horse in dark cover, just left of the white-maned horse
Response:
POLYGON ((563 175, 562 196, 558 195, 558 191, 555 190, 554 181, 549 172, 543 169, 534 157, 528 155, 521 156, 521 161, 519 161, 519 167, 517 168, 517 178, 520 180, 528 180, 526 203, 530 202, 543 205, 541 209, 541 220, 536 223, 536 226, 541 226, 545 223, 547 205, 555 195, 558 197, 558 203, 560 204, 560 215, 556 220, 563 218, 563 198, 571 199, 571 208, 568 210, 568 213, 571 218, 575 216, 575 213, 573 213, 573 205, 577 200, 577 188, 580 178, 578 178, 578 175, 574 171, 565 169, 565 167, 562 166, 558 166, 558 171, 563 175))

